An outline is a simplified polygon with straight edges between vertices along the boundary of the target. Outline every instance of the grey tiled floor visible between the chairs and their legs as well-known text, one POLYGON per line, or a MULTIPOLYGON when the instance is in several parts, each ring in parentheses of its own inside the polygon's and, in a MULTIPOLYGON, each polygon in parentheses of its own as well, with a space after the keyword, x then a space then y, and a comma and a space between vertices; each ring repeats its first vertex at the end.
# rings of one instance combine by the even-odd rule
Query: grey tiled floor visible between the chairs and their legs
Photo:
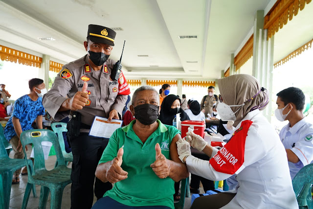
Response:
MULTIPOLYGON (((28 146, 28 151, 27 151, 27 156, 30 156, 30 152, 31 152, 31 147, 28 146)), ((13 158, 14 152, 11 151, 10 153, 10 158, 13 158)), ((45 166, 46 168, 52 169, 54 167, 56 161, 56 157, 55 156, 49 156, 48 160, 45 161, 45 166)), ((71 166, 71 165, 69 165, 71 166)), ((16 184, 16 185, 12 185, 11 188, 11 199, 10 199, 10 209, 21 209, 22 207, 22 201, 23 201, 23 197, 24 197, 24 192, 25 192, 25 188, 27 185, 27 176, 22 176, 20 175, 20 184, 16 184)), ((62 199, 62 209, 70 209, 70 184, 67 185, 67 187, 64 189, 63 191, 63 199, 62 199)), ((200 188, 202 190, 200 190, 201 193, 203 192, 203 188, 200 188)), ((31 193, 29 200, 28 200, 28 204, 27 204, 27 209, 38 209, 39 207, 39 196, 40 196, 40 186, 36 185, 36 191, 37 191, 37 197, 35 198, 33 196, 33 194, 31 193)), ((94 202, 95 202, 96 198, 94 197, 94 202)), ((189 209, 191 205, 191 197, 186 197, 185 198, 185 206, 184 209, 189 209)), ((46 209, 50 209, 50 195, 48 197, 48 202, 47 202, 47 206, 46 209)))

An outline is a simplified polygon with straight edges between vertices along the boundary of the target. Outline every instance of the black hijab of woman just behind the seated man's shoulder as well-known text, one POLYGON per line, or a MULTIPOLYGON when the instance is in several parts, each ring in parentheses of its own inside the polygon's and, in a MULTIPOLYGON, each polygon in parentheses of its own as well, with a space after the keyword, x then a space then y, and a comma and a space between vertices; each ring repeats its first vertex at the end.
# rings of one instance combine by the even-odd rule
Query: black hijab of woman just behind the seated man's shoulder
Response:
MULTIPOLYGON (((170 110, 172 104, 177 99, 180 102, 179 97, 174 94, 170 94, 164 98, 161 104, 160 117, 158 118, 162 122, 162 124, 173 125, 173 119, 175 117, 175 114, 171 113, 170 110)), ((179 108, 178 113, 180 113, 180 121, 190 120, 187 113, 185 113, 185 111, 183 111, 181 108, 179 108)))

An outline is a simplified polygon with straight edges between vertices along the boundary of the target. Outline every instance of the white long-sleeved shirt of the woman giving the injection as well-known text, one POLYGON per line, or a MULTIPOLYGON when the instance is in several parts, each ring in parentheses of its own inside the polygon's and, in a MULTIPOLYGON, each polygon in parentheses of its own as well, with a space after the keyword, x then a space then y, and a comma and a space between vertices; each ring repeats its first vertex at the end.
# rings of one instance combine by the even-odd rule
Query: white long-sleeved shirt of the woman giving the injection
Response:
MULTIPOLYGON (((221 181, 235 174, 238 185, 228 192, 237 194, 222 209, 297 209, 298 204, 292 189, 286 151, 278 134, 258 109, 249 112, 241 123, 246 120, 253 123, 248 128, 245 147, 242 149, 244 150, 243 164, 232 163, 234 167, 239 167, 237 171, 232 173, 224 167, 224 172, 218 172, 209 161, 188 156, 186 165, 189 172, 213 181, 221 181)), ((241 128, 241 123, 237 125, 234 133, 241 128)), ((223 148, 221 150, 225 151, 223 148)), ((217 151, 214 149, 212 159, 217 151)), ((230 154, 235 153, 231 148, 227 151, 230 154)), ((221 151, 218 154, 221 155, 221 151)), ((225 165, 229 166, 229 164, 220 164, 221 168, 225 165)))

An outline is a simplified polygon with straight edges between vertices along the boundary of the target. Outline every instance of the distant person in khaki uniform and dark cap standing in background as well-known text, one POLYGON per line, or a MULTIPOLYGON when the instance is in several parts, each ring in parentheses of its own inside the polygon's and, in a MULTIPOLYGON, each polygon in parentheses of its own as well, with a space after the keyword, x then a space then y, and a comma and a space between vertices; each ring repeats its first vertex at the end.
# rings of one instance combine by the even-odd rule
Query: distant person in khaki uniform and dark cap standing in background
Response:
MULTIPOLYGON (((216 106, 219 102, 218 96, 215 93, 214 86, 209 86, 207 89, 208 95, 205 95, 201 101, 201 109, 204 109, 205 117, 213 117, 213 107, 216 106), (209 115, 208 115, 209 114, 209 115)), ((216 111, 216 109, 214 109, 216 111)))

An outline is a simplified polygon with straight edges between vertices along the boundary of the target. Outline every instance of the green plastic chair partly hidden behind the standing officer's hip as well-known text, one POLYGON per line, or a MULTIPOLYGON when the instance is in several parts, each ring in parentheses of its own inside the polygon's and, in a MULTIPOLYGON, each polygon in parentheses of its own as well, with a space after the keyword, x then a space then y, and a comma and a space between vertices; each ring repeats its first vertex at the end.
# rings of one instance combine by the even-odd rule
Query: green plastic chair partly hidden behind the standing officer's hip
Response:
MULTIPOLYGON (((62 154, 65 160, 65 163, 67 164, 67 162, 73 162, 73 154, 72 152, 67 153, 65 151, 65 145, 64 145, 64 138, 63 138, 63 132, 67 132, 67 124, 66 123, 53 123, 51 124, 51 128, 53 130, 54 133, 58 134, 58 138, 59 138, 59 144, 61 146, 61 150, 62 150, 62 154)), ((55 166, 58 165, 58 161, 55 162, 55 166)))

